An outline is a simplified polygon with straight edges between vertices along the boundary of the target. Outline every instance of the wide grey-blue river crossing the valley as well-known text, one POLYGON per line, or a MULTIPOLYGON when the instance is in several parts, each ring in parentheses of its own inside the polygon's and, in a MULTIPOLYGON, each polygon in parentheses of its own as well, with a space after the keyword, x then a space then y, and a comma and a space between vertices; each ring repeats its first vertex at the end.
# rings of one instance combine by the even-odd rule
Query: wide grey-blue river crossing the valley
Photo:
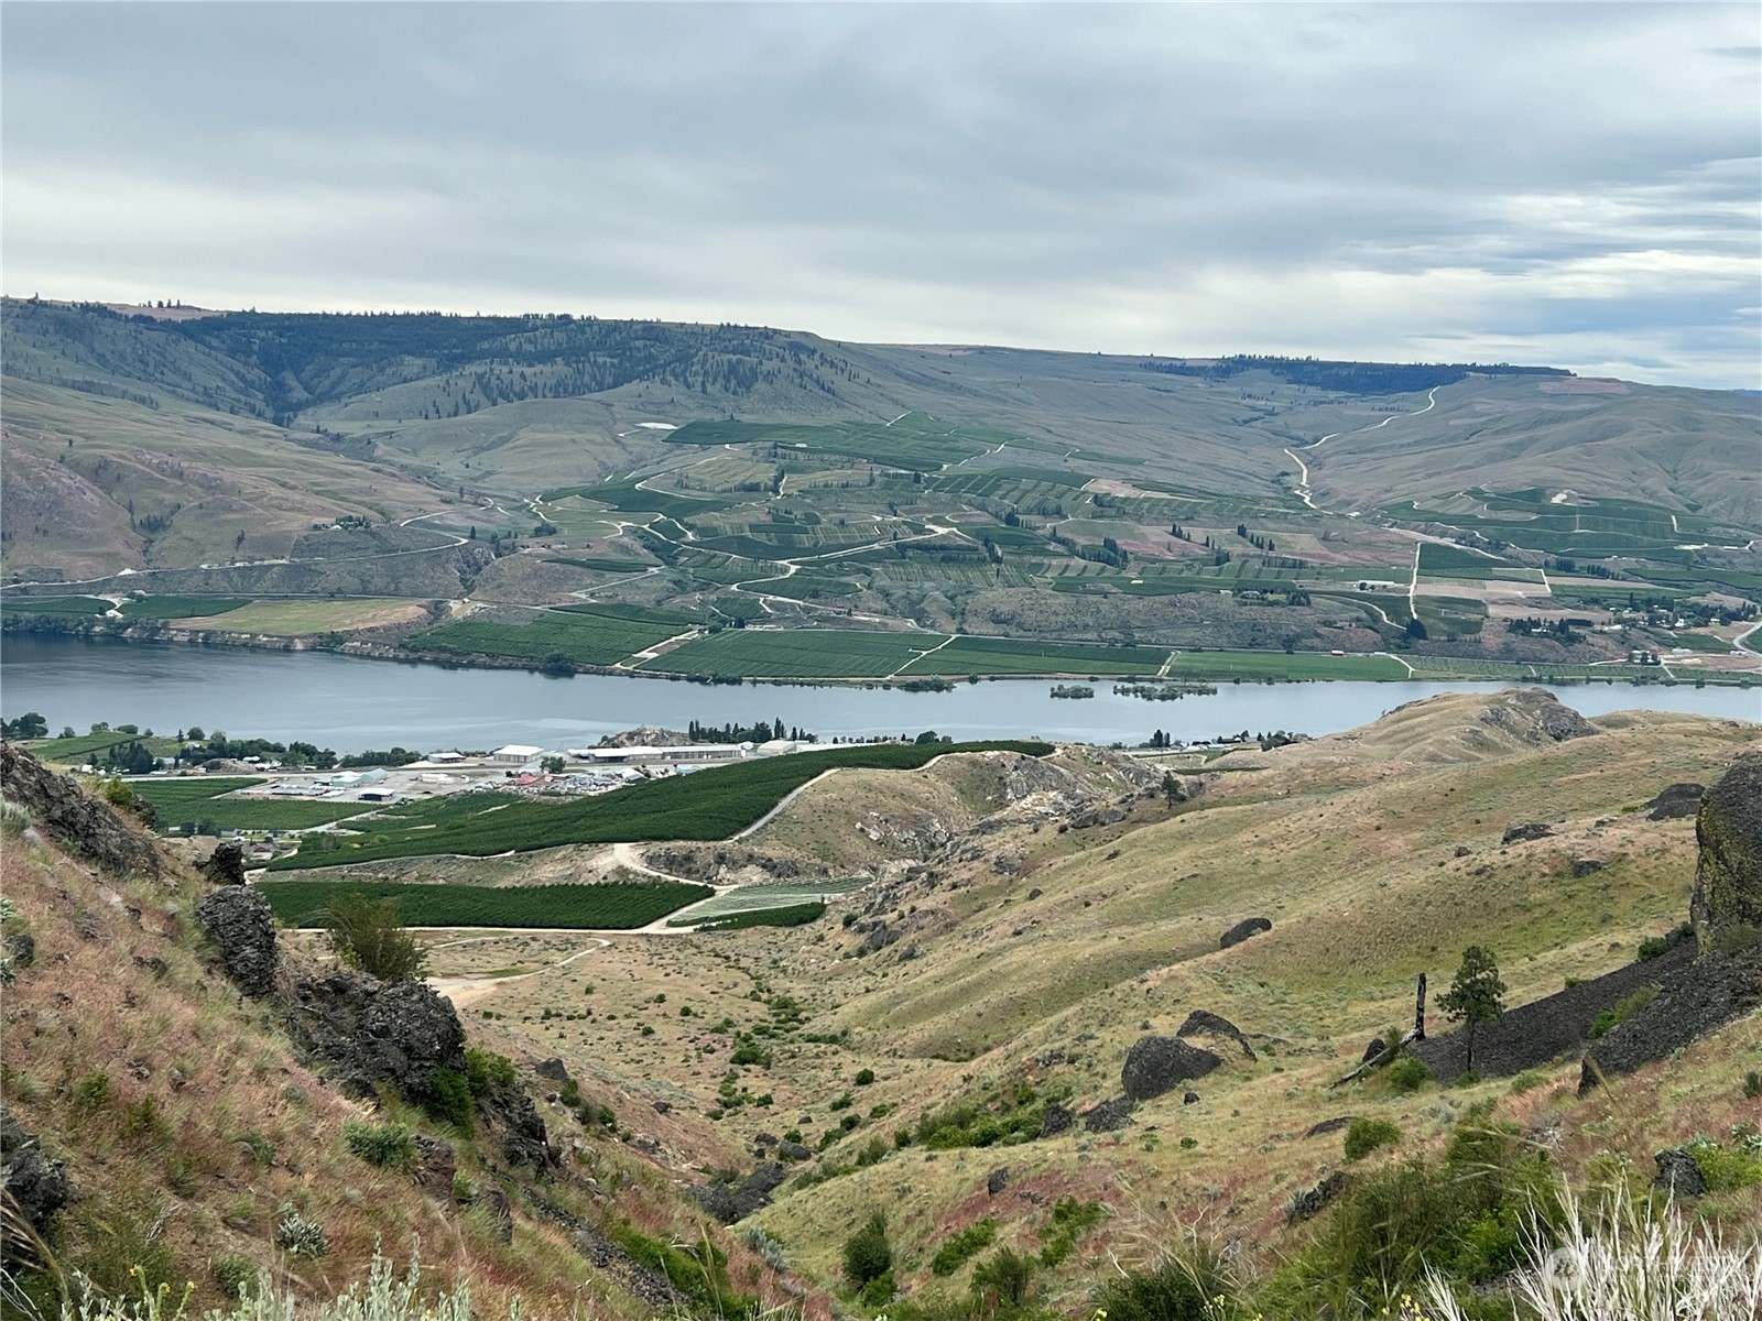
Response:
MULTIPOLYGON (((798 685, 701 685, 617 675, 546 678, 523 669, 448 669, 331 652, 129 643, 9 634, 0 650, 0 710, 41 712, 51 731, 95 720, 173 733, 189 726, 236 736, 301 738, 338 752, 402 745, 423 752, 537 743, 583 747, 633 726, 684 729, 782 719, 835 734, 1040 736, 1142 743, 1152 729, 1182 742, 1286 729, 1330 734, 1438 692, 1498 692, 1499 683, 1225 683, 1181 701, 1055 699, 1047 680, 957 683, 950 692, 798 685)), ((1628 708, 1762 720, 1762 692, 1692 685, 1563 685, 1584 715, 1628 708)))

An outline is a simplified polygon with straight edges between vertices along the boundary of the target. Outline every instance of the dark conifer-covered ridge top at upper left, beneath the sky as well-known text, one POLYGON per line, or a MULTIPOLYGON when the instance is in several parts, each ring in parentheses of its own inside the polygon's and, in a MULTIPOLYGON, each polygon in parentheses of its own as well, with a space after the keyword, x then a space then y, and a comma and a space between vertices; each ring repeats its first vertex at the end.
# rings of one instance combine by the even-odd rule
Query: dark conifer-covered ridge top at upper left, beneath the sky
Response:
POLYGON ((633 380, 749 395, 759 384, 828 387, 848 368, 802 336, 758 326, 673 326, 569 314, 460 317, 442 312, 226 312, 190 321, 122 315, 97 303, 7 299, 7 372, 113 393, 102 380, 32 370, 55 345, 92 366, 150 380, 222 412, 285 424, 315 403, 458 375, 430 402, 460 416, 529 398, 574 398, 633 380), (189 342, 206 372, 164 372, 189 342), (16 352, 14 349, 26 349, 16 352), (206 379, 203 379, 206 377, 206 379), (171 386, 169 382, 180 382, 171 386))

